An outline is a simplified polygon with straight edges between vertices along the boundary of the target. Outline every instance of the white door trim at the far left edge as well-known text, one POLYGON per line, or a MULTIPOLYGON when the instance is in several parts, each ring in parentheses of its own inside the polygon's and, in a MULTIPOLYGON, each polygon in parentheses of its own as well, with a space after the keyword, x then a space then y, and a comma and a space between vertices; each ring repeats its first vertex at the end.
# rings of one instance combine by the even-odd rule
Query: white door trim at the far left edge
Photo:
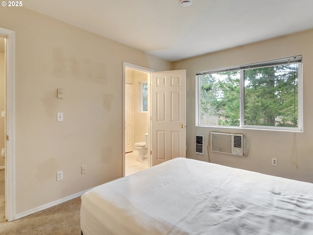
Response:
POLYGON ((5 91, 5 219, 16 219, 16 178, 15 178, 15 32, 0 27, 5 40, 6 91, 5 91))

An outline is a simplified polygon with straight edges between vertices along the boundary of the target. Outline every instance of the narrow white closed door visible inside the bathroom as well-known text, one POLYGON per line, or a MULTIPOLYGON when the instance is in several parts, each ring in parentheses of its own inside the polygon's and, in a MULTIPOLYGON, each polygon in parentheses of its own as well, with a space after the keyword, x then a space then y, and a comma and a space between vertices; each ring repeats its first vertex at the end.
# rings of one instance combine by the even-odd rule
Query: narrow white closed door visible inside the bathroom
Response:
POLYGON ((133 151, 133 84, 125 83, 125 153, 133 151))

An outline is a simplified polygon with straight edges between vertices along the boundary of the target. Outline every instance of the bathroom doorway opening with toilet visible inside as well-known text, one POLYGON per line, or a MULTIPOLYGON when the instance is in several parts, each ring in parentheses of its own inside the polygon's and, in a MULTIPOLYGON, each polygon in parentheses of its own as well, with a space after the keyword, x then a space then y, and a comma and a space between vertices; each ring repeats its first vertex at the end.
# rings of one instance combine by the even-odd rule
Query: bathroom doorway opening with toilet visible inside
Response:
POLYGON ((123 63, 124 150, 123 176, 150 167, 150 77, 153 70, 123 63), (147 134, 147 135, 146 135, 147 134), (138 148, 145 143, 144 149, 138 148), (135 146, 136 145, 136 146, 135 146), (146 162, 139 152, 145 150, 146 162))

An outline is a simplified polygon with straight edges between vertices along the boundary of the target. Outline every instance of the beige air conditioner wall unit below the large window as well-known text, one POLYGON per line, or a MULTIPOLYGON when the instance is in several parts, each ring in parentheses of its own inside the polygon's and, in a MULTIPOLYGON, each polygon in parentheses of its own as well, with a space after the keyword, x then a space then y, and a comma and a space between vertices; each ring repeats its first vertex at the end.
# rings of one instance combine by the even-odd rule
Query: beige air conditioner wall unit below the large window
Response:
POLYGON ((244 155, 244 135, 221 132, 210 133, 211 151, 233 155, 244 155))

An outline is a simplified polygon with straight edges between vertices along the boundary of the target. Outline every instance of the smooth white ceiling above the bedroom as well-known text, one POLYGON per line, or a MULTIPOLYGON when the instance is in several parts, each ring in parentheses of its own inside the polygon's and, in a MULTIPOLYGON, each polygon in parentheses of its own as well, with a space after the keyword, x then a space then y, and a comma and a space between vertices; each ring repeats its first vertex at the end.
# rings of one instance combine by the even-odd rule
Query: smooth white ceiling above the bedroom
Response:
POLYGON ((313 0, 24 0, 23 6, 178 61, 313 28, 313 0))

